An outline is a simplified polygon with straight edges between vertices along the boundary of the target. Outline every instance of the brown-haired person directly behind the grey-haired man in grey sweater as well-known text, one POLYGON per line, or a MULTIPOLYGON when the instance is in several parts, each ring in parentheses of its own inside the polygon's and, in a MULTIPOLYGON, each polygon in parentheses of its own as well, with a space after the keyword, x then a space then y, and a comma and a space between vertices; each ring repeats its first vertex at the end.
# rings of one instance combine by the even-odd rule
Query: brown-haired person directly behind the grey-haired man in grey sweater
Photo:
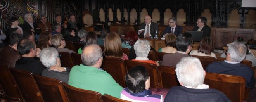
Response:
POLYGON ((38 40, 38 48, 41 50, 46 47, 52 46, 52 35, 49 32, 41 33, 38 40))

